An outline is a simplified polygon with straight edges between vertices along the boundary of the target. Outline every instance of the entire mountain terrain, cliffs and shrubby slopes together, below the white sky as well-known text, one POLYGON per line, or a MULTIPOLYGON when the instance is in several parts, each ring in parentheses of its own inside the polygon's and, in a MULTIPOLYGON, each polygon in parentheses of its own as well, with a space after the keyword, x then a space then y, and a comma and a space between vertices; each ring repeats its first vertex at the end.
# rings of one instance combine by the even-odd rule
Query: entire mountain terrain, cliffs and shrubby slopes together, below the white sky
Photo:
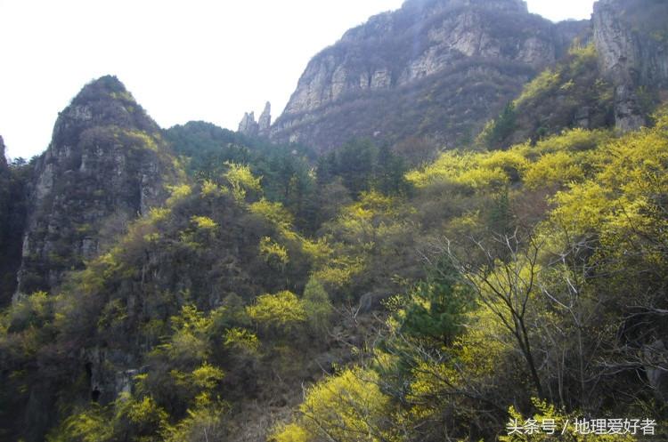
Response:
POLYGON ((304 127, 343 140, 371 124, 340 125, 350 103, 387 100, 375 138, 402 149, 273 144, 269 105, 245 134, 163 130, 118 78, 86 84, 44 155, 0 157, 0 439, 589 440, 575 422, 642 416, 623 440, 668 440, 667 13, 371 19, 322 53, 398 70, 302 96, 304 127), (387 44, 416 52, 362 51, 387 44), (416 125, 443 103, 470 133, 416 125), (463 146, 430 150, 447 131, 463 146))

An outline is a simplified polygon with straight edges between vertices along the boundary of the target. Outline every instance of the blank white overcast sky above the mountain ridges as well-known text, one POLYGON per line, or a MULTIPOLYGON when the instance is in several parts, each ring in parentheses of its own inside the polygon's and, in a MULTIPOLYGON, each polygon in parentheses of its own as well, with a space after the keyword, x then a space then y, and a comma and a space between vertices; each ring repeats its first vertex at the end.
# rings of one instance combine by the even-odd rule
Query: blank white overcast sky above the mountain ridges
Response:
MULTIPOLYGON (((8 157, 46 149, 58 112, 113 74, 160 126, 232 130, 272 102, 275 119, 306 63, 348 28, 403 0, 0 0, 0 135, 8 157)), ((528 0, 550 20, 593 0, 528 0)))

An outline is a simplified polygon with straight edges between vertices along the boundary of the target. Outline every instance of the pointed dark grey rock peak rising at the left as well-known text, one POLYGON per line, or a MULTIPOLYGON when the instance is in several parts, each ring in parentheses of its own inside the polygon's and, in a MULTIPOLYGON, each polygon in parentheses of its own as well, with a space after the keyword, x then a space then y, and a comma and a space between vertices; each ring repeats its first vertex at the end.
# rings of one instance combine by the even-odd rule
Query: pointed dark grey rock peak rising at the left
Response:
POLYGON ((99 252, 101 231, 164 201, 170 158, 158 125, 116 77, 87 84, 35 165, 17 295, 60 284, 99 252))

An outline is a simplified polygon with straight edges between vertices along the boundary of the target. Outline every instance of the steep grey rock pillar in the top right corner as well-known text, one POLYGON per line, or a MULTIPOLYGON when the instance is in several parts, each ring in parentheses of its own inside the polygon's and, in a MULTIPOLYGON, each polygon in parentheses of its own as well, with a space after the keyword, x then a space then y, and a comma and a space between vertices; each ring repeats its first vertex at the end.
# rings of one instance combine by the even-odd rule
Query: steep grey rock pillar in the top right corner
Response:
POLYGON ((600 0, 592 16, 601 71, 615 84, 615 125, 645 124, 641 95, 668 88, 668 3, 600 0))

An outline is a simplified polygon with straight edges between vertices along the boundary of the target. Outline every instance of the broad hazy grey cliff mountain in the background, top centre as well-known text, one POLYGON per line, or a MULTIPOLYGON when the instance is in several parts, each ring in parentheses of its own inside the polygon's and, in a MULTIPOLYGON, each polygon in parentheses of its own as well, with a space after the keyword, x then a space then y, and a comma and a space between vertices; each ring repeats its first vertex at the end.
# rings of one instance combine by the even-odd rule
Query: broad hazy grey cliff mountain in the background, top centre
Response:
POLYGON ((316 55, 271 137, 321 150, 360 136, 455 143, 586 28, 543 20, 520 0, 408 1, 316 55))

